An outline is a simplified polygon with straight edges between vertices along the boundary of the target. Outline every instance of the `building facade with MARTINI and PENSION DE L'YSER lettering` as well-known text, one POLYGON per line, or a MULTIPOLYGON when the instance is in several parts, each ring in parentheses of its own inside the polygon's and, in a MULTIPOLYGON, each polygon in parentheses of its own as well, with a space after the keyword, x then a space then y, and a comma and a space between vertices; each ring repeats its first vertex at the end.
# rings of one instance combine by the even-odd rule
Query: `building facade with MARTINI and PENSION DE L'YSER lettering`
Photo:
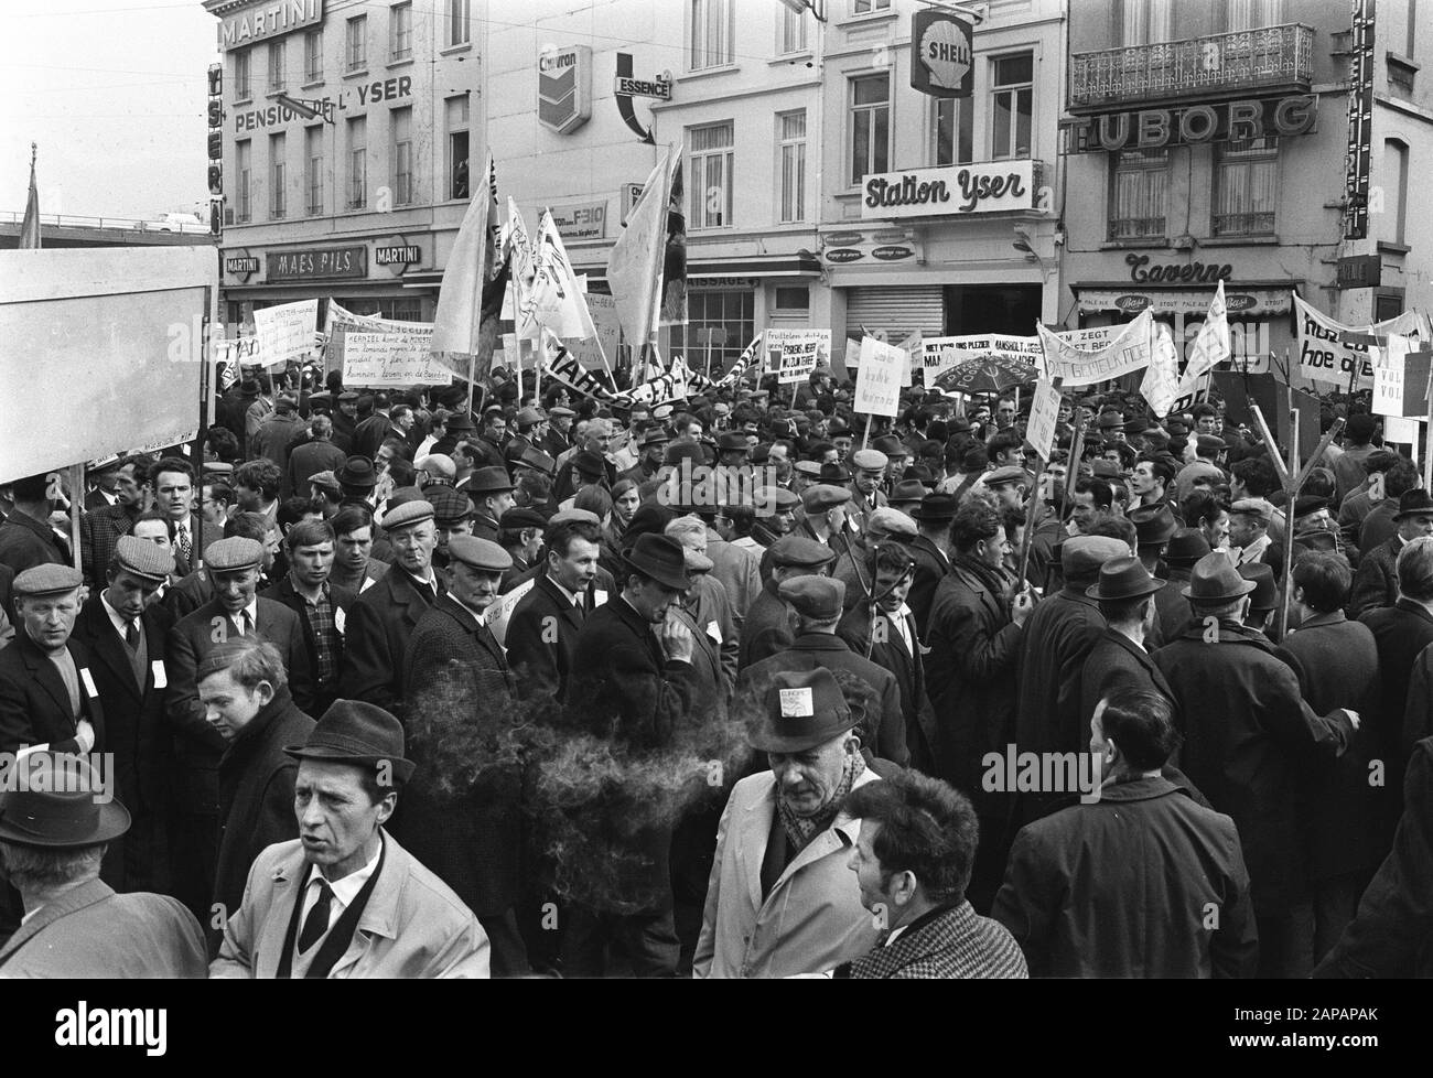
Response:
POLYGON ((203 7, 222 53, 225 321, 312 297, 431 321, 483 143, 470 0, 203 7))

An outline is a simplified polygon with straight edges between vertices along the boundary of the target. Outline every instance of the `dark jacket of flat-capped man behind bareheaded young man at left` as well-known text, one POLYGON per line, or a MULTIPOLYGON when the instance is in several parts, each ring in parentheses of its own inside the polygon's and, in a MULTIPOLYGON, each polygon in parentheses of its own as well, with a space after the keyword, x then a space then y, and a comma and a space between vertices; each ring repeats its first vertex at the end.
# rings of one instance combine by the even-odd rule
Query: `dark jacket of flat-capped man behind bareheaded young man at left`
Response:
MULTIPOLYGON (((278 648, 288 672, 288 691, 302 711, 312 705, 314 685, 298 615, 272 599, 257 598, 255 632, 278 648)), ((211 599, 169 629, 169 691, 165 712, 175 733, 179 807, 214 816, 219 811, 219 757, 228 744, 203 717, 195 674, 205 655, 234 632, 234 622, 211 599), (215 639, 218 636, 219 639, 215 639)))

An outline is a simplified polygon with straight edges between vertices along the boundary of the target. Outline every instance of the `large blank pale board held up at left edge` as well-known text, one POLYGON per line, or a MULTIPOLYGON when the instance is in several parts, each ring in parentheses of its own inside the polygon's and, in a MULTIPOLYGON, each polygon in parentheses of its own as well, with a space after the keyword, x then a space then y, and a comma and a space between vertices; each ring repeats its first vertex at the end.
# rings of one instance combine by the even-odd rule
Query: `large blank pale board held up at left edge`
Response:
POLYGON ((0 483, 192 437, 218 285, 212 247, 0 251, 0 483))

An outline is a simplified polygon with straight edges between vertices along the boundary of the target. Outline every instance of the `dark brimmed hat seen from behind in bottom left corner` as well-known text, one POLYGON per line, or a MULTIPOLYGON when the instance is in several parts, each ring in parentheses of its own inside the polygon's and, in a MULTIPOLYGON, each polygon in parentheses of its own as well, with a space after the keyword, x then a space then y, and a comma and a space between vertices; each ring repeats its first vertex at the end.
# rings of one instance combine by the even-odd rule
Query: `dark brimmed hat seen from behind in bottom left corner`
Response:
POLYGON ((103 786, 85 757, 27 753, 11 770, 23 770, 27 781, 0 796, 0 841, 73 850, 129 830, 129 810, 96 797, 103 786))

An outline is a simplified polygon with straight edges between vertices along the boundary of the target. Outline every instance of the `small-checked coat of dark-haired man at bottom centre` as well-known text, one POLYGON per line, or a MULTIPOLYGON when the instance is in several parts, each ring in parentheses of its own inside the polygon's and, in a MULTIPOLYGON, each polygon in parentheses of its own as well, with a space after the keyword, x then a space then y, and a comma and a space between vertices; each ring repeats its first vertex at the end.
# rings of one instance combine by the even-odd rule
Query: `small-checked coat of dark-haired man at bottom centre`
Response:
POLYGON ((837 970, 850 978, 906 979, 1023 979, 1025 966, 1015 936, 969 902, 943 910, 837 970))

